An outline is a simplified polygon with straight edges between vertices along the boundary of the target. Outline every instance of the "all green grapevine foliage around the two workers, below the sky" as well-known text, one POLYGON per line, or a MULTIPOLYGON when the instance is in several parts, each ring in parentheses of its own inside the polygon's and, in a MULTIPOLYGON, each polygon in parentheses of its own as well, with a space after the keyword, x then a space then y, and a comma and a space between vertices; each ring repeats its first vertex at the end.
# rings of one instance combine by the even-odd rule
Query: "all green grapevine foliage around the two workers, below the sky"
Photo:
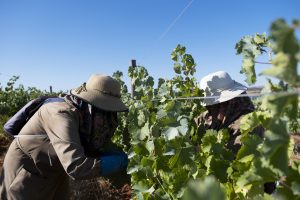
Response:
MULTIPOLYGON (((300 199, 299 160, 290 159, 290 135, 300 133, 297 30, 298 21, 289 25, 279 19, 269 35, 245 36, 236 44, 249 85, 256 82, 256 60, 264 54, 270 68, 261 75, 278 80, 268 81, 263 92, 269 94, 257 100, 256 112, 243 118, 243 146, 237 155, 226 148, 226 129, 204 131, 195 123, 205 108, 200 99, 186 97, 204 94, 194 77, 196 63, 184 46, 171 53, 174 77, 159 79, 157 86, 145 67, 129 67, 133 97, 123 73, 114 73, 129 112, 119 115, 113 140, 128 152, 133 199, 300 199), (257 126, 265 128, 263 139, 248 134, 257 126), (263 192, 270 181, 278 182, 272 196, 263 192)), ((1 126, 29 100, 49 95, 15 86, 17 79, 0 87, 1 126)))

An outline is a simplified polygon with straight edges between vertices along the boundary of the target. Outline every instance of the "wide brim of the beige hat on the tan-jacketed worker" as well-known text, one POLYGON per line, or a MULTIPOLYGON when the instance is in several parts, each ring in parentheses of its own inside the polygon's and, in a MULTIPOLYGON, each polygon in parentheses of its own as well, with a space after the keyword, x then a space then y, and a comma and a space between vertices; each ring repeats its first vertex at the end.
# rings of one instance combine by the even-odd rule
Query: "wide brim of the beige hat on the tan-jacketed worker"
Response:
POLYGON ((77 93, 75 89, 72 89, 70 93, 86 101, 87 103, 95 106, 96 108, 99 108, 104 111, 110 111, 110 112, 128 111, 128 108, 121 101, 120 98, 103 94, 96 90, 81 91, 80 93, 77 93))

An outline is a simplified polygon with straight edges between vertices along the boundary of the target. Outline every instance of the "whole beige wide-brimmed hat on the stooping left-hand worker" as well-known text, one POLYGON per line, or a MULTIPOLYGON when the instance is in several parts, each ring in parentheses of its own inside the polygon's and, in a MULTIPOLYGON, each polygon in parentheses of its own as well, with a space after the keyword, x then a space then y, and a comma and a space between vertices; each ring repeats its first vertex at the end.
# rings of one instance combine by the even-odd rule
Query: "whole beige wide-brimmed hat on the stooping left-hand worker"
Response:
POLYGON ((121 100, 121 86, 110 76, 93 74, 86 83, 72 89, 72 95, 105 111, 123 112, 128 108, 121 100))

